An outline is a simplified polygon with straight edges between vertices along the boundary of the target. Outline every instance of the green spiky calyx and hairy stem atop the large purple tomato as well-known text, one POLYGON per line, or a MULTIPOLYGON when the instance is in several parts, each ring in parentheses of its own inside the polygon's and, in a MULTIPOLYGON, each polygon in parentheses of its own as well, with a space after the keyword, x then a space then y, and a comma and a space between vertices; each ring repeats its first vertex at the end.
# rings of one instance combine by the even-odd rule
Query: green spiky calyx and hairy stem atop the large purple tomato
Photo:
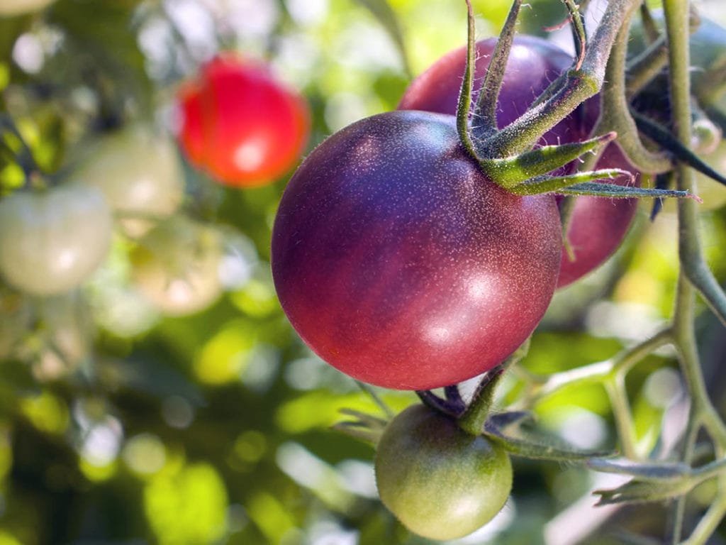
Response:
MULTIPOLYGON (((634 0, 613 0, 608 3, 607 12, 603 17, 604 24, 600 25, 586 43, 584 25, 579 8, 573 1, 564 0, 573 21, 573 33, 576 44, 579 45, 576 60, 571 70, 564 73, 545 89, 534 106, 524 113, 512 124, 498 129, 497 127, 497 100, 499 89, 505 76, 505 67, 513 44, 515 23, 521 7, 521 0, 514 0, 502 33, 499 35, 497 47, 492 55, 484 81, 479 90, 478 100, 473 110, 472 121, 469 121, 470 105, 473 96, 473 76, 475 62, 475 36, 473 23, 473 10, 471 3, 468 6, 468 55, 465 66, 464 79, 460 100, 457 106, 457 130, 460 141, 470 156, 476 159, 481 170, 500 187, 515 195, 537 195, 541 193, 560 193, 563 195, 595 195, 616 198, 695 198, 685 192, 670 190, 668 188, 641 188, 634 185, 619 185, 607 182, 608 179, 632 174, 619 169, 583 170, 576 174, 556 175, 553 171, 568 165, 572 161, 582 158, 587 153, 597 156, 606 145, 615 140, 621 128, 626 129, 622 135, 626 151, 632 149, 645 149, 640 144, 637 133, 632 129, 635 121, 626 108, 617 115, 601 116, 598 127, 608 126, 605 134, 585 140, 584 142, 566 143, 560 145, 546 145, 535 148, 537 142, 545 132, 552 129, 555 124, 566 118, 579 104, 592 97, 602 87, 606 73, 613 70, 608 65, 608 57, 613 51, 619 51, 619 41, 627 36, 627 27, 632 13, 639 4, 634 0), (625 28, 625 33, 622 31, 625 28), (617 47, 616 47, 617 46, 617 47), (615 119, 617 122, 603 120, 615 119), (618 121, 621 119, 621 121, 618 121), (635 136, 634 136, 635 134, 635 136), (595 183, 597 182, 597 183, 595 183)), ((617 67, 616 67, 617 68, 617 67)), ((624 79, 624 78, 623 78, 624 79)), ((609 78, 608 78, 608 81, 609 78)), ((624 87, 624 83, 622 85, 624 87)), ((625 100, 615 104, 613 98, 605 101, 606 110, 621 110, 625 100), (609 107, 608 107, 609 105, 609 107)), ((607 113, 607 112, 606 112, 607 113)), ((639 125, 640 128, 640 125, 639 125)), ((650 128, 650 126, 649 126, 650 128)), ((648 136, 653 139, 650 134, 648 136)), ((670 141, 675 141, 671 138, 670 141)), ((665 142, 664 138, 656 141, 665 142)), ((684 160, 688 158, 693 165, 703 166, 695 154, 683 146, 665 145, 674 158, 684 160)), ((648 152, 653 158, 656 171, 671 169, 672 160, 663 153, 648 152)), ((584 161, 585 164, 594 164, 584 161)), ((703 170, 703 168, 701 168, 703 170)), ((646 169, 647 171, 647 169, 646 169)), ((698 198, 696 198, 698 200, 698 198)))

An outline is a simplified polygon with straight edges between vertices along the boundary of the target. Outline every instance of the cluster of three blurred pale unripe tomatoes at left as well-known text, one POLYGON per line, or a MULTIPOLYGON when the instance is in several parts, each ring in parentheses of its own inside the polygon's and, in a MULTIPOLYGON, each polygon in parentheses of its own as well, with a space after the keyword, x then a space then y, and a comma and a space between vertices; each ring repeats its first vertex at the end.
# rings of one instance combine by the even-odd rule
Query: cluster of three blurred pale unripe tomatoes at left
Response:
POLYGON ((145 124, 102 134, 68 180, 0 201, 0 275, 31 296, 62 296, 105 261, 115 228, 131 241, 134 288, 167 315, 221 294, 223 241, 178 214, 184 178, 173 141, 145 124))

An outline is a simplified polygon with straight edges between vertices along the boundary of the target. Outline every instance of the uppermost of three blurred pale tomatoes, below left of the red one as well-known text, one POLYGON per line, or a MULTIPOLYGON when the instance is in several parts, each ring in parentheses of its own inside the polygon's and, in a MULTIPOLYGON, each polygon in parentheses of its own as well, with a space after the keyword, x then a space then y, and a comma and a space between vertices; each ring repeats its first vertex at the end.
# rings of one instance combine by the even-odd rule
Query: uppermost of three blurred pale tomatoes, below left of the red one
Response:
POLYGON ((102 190, 121 215, 124 232, 132 237, 146 233, 153 220, 174 214, 184 198, 174 143, 143 124, 101 137, 86 154, 76 178, 102 190))

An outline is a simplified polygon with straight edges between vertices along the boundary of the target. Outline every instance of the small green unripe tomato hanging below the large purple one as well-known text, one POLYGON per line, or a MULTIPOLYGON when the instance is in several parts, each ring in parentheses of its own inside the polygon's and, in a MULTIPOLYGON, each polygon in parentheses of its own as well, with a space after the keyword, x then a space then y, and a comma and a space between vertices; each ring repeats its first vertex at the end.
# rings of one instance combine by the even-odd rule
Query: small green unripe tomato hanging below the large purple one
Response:
POLYGON ((446 540, 472 533, 502 509, 512 489, 512 464, 486 437, 412 405, 380 438, 375 481, 381 501, 404 526, 446 540))

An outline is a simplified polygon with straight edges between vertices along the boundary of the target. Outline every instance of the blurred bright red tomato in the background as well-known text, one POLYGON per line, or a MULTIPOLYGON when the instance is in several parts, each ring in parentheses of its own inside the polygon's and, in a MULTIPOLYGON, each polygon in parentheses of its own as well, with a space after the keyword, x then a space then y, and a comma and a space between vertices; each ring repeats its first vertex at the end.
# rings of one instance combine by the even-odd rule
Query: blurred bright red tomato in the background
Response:
POLYGON ((310 113, 266 65, 230 53, 208 62, 179 91, 182 150, 195 166, 232 187, 274 182, 300 157, 310 113))

